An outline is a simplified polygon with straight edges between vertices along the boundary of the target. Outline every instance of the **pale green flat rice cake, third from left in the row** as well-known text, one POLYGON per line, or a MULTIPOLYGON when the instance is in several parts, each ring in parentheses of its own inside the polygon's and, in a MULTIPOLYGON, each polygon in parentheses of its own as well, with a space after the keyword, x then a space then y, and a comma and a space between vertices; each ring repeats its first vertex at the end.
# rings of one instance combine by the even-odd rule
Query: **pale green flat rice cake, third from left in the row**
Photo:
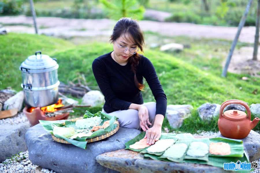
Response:
POLYGON ((179 159, 184 155, 187 148, 187 144, 184 143, 173 144, 164 152, 163 156, 166 158, 179 159))

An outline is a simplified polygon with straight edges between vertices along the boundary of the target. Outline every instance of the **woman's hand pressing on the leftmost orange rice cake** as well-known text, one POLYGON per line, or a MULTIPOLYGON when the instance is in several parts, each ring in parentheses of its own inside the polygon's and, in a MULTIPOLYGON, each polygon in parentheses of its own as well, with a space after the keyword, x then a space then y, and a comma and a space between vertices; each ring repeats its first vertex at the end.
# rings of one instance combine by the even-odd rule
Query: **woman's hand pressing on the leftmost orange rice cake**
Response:
POLYGON ((147 144, 153 145, 161 137, 161 125, 154 124, 153 127, 146 130, 144 138, 147 138, 147 144))

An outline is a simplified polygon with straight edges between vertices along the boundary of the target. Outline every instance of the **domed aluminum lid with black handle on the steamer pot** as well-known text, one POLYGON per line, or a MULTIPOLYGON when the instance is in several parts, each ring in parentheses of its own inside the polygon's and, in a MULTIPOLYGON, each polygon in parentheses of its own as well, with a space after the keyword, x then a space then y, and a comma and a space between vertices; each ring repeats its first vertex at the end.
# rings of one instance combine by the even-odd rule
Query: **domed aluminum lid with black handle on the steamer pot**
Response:
POLYGON ((42 52, 35 52, 21 64, 20 69, 25 71, 58 68, 57 62, 42 52))

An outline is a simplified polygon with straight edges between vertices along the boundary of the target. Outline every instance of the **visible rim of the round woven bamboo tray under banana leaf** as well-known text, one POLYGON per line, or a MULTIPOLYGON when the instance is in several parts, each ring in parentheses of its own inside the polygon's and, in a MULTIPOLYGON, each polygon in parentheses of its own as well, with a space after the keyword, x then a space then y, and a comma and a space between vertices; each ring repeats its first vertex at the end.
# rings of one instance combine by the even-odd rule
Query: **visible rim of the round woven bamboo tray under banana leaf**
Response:
MULTIPOLYGON (((83 117, 79 117, 79 118, 75 118, 75 119, 71 119, 69 121, 77 121, 79 119, 83 119, 83 117)), ((96 141, 99 141, 99 140, 102 140, 102 139, 105 139, 105 138, 108 138, 109 136, 115 134, 118 129, 119 129, 119 122, 118 121, 115 121, 114 124, 117 124, 116 128, 110 132, 108 132, 107 134, 104 134, 104 135, 101 135, 101 136, 97 136, 97 137, 94 137, 94 138, 90 138, 90 139, 87 139, 86 141, 89 142, 96 142, 96 141)), ((65 123, 63 123, 63 125, 65 125, 65 123)), ((69 142, 67 142, 66 140, 64 139, 60 139, 60 138, 56 138, 54 135, 51 135, 52 136, 52 139, 57 141, 57 142, 60 142, 60 143, 64 143, 64 144, 71 144, 69 142)))

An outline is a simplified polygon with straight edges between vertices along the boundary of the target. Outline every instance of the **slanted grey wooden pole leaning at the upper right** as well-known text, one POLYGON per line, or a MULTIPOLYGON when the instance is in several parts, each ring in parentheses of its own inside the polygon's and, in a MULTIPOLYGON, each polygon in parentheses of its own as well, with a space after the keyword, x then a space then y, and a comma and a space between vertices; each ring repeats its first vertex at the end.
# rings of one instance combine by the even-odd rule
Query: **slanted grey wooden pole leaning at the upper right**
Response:
POLYGON ((225 67, 224 67, 224 69, 222 71, 222 75, 221 75, 222 77, 226 77, 227 69, 229 67, 229 63, 231 61, 231 57, 232 57, 233 51, 234 51, 234 49, 236 47, 237 40, 238 40, 238 37, 240 35, 240 32, 241 32, 241 30, 242 30, 242 28, 243 28, 243 26, 244 26, 244 24, 246 22, 246 16, 247 16, 247 14, 249 12, 251 4, 252 4, 252 0, 249 0, 248 4, 246 5, 246 10, 244 12, 244 15, 242 16, 242 18, 241 18, 241 20, 239 22, 238 29, 237 29, 237 34, 236 34, 235 39, 234 39, 234 41, 233 41, 233 43, 231 45, 231 48, 229 50, 229 55, 228 55, 228 57, 226 59, 226 65, 225 65, 225 67))

